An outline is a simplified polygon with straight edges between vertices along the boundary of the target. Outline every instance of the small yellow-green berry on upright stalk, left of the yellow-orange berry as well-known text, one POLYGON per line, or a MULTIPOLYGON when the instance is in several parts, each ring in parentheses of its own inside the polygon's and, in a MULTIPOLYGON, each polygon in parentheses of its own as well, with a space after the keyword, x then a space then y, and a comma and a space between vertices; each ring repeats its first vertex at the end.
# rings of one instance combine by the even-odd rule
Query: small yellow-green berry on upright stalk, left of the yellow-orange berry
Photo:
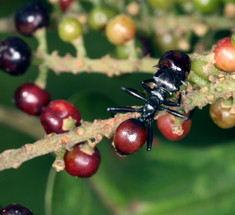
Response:
POLYGON ((61 40, 71 42, 82 35, 82 25, 77 19, 67 17, 60 22, 58 33, 61 40))

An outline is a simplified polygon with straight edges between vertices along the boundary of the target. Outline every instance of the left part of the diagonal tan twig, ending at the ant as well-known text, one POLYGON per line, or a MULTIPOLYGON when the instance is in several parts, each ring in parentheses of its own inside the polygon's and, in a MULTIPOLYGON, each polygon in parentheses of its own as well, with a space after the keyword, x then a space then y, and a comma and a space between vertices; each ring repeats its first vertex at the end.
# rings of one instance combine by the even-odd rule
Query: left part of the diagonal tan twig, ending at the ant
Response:
POLYGON ((18 168, 27 160, 57 152, 62 147, 70 149, 78 142, 95 140, 100 136, 110 138, 121 122, 136 116, 135 113, 118 114, 115 118, 107 120, 95 120, 93 123, 83 122, 81 126, 67 133, 50 134, 35 143, 25 144, 18 149, 6 150, 0 154, 0 170, 18 168))

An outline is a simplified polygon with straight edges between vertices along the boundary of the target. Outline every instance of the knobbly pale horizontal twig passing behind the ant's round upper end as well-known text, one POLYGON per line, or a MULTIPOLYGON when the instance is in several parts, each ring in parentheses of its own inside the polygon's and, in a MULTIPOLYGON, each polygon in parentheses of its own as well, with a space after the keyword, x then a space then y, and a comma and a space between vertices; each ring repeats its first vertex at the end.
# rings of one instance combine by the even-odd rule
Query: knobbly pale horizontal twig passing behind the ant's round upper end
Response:
MULTIPOLYGON (((207 63, 213 64, 213 58, 211 53, 208 55, 201 54, 190 54, 191 60, 203 59, 207 63)), ((114 75, 121 75, 125 73, 154 73, 154 68, 158 63, 158 58, 151 58, 149 56, 143 57, 141 59, 129 58, 125 60, 111 58, 106 55, 99 59, 90 59, 88 57, 73 57, 70 54, 62 57, 58 55, 57 51, 52 54, 36 53, 36 57, 44 62, 43 66, 48 67, 55 73, 74 73, 79 74, 82 72, 94 72, 106 74, 109 77, 114 75)))

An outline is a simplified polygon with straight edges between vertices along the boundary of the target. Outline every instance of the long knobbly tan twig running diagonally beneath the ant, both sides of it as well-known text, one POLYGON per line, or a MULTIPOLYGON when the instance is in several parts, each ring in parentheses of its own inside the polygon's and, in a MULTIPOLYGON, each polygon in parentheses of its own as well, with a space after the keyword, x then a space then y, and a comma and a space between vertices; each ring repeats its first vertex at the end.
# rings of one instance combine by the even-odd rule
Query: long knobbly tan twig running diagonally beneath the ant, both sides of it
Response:
MULTIPOLYGON (((211 85, 199 89, 189 87, 185 96, 182 97, 182 107, 185 111, 190 111, 195 107, 202 108, 214 102, 218 98, 229 98, 235 92, 235 75, 226 75, 216 79, 211 85)), ((107 120, 95 120, 93 123, 83 122, 75 130, 64 134, 51 134, 32 144, 26 144, 19 149, 6 150, 0 154, 0 170, 8 168, 18 168, 23 162, 48 154, 58 152, 61 148, 71 149, 71 147, 83 141, 93 141, 97 144, 103 136, 111 138, 117 126, 128 118, 138 117, 137 113, 117 114, 115 118, 107 120)))

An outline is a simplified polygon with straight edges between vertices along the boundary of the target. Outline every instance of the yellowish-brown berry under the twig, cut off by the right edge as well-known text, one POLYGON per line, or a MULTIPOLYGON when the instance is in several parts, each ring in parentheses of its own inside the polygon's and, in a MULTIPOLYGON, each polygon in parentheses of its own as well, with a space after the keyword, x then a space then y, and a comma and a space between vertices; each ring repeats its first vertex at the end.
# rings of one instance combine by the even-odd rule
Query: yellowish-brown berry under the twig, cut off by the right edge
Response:
POLYGON ((220 128, 235 126, 235 114, 231 113, 232 100, 218 99, 210 105, 210 117, 220 128))

